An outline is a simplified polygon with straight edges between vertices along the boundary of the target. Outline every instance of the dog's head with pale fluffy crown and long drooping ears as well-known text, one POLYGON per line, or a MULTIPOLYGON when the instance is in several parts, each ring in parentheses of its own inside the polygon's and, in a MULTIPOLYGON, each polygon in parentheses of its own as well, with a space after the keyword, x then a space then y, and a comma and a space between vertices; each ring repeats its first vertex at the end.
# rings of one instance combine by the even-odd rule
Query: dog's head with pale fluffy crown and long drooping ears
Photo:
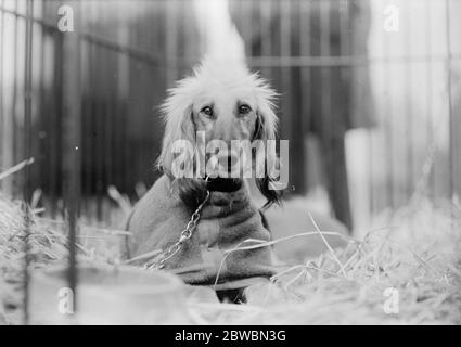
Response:
POLYGON ((241 160, 245 146, 239 147, 236 143, 252 147, 252 171, 257 167, 259 172, 252 177, 268 203, 279 201, 268 174, 268 165, 277 163, 276 153, 264 151, 262 156, 255 155, 259 145, 264 150, 266 140, 276 140, 274 98, 268 82, 251 74, 243 64, 225 65, 207 60, 194 69, 194 76, 178 81, 169 90, 163 105, 166 128, 157 165, 175 180, 184 203, 197 205, 206 188, 240 188, 243 171, 235 171, 235 167, 244 167, 248 158, 241 160), (256 142, 258 146, 254 145, 256 142), (201 156, 201 152, 205 155, 201 156), (178 169, 184 177, 178 175, 178 169), (188 170, 192 175, 184 175, 188 170), (219 178, 206 183, 205 176, 219 178))

